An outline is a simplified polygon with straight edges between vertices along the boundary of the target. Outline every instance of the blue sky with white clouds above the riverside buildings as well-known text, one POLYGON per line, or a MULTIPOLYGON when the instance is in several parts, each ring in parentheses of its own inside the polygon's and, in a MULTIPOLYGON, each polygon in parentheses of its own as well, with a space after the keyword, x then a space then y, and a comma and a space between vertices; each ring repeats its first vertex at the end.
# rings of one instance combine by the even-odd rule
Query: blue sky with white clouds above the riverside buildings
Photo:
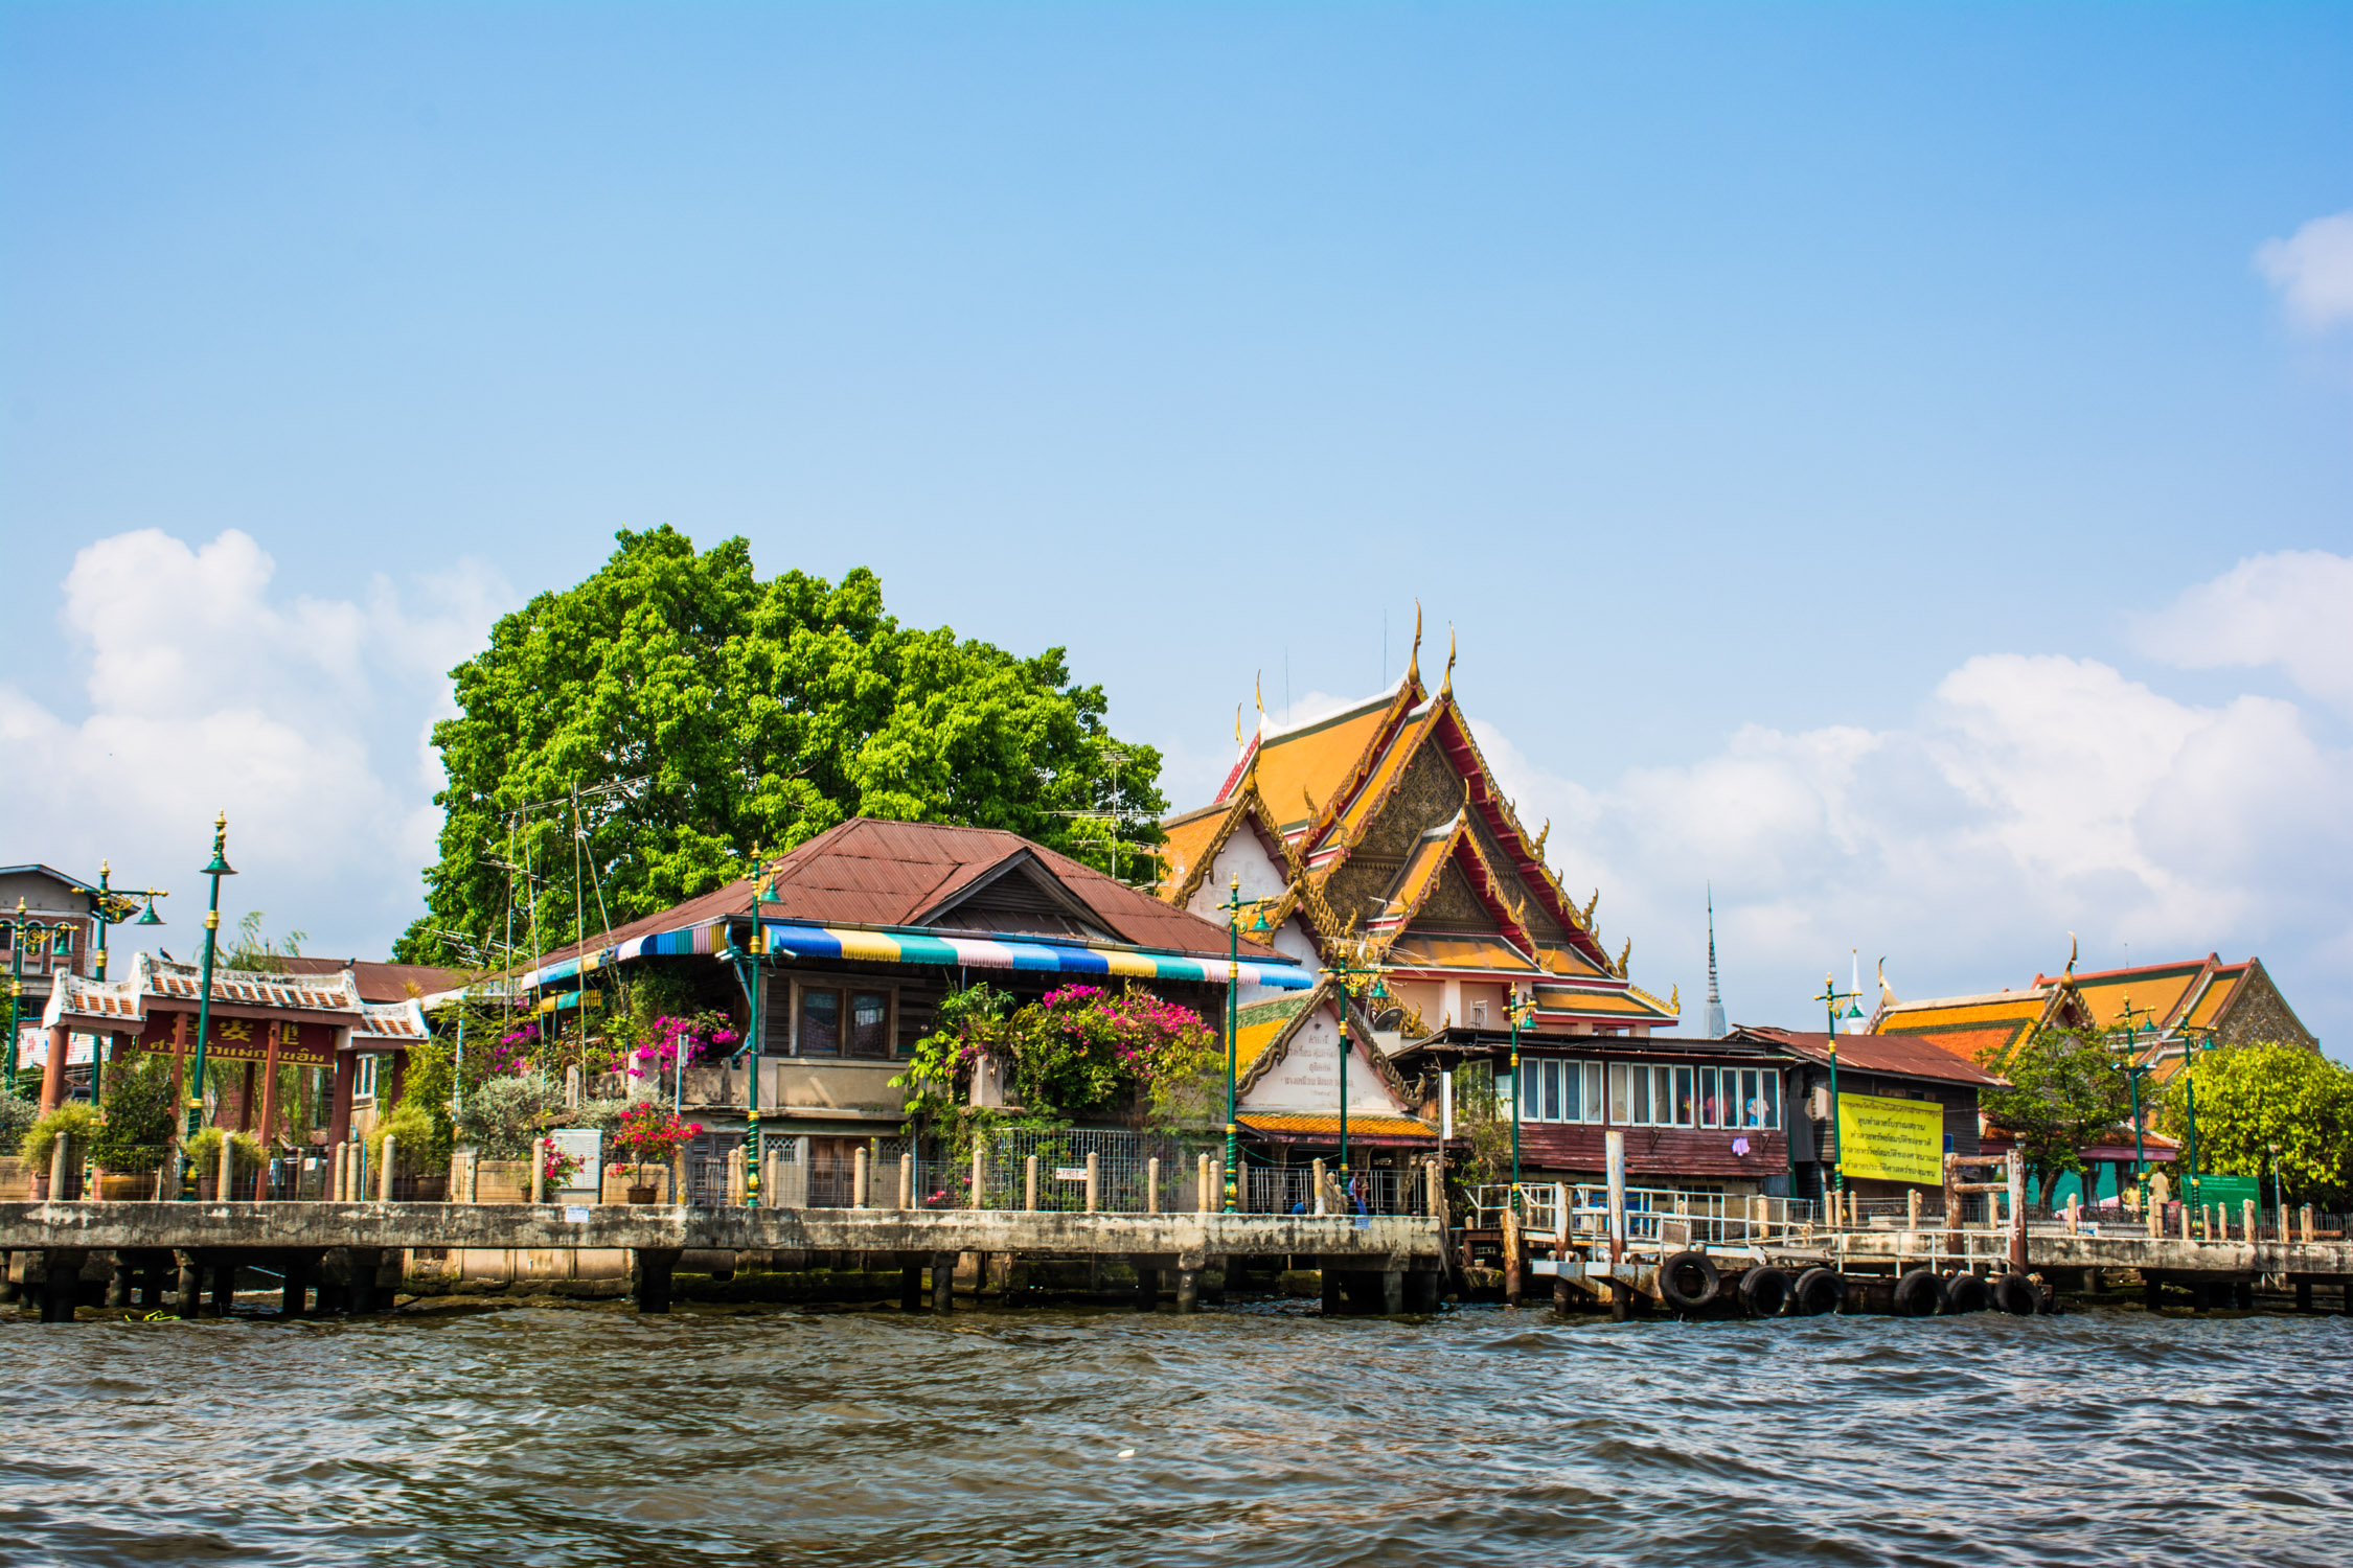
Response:
POLYGON ((0 860, 381 954, 616 529, 1457 689, 1633 976, 2353 1053, 2353 7, 0 5, 0 860))

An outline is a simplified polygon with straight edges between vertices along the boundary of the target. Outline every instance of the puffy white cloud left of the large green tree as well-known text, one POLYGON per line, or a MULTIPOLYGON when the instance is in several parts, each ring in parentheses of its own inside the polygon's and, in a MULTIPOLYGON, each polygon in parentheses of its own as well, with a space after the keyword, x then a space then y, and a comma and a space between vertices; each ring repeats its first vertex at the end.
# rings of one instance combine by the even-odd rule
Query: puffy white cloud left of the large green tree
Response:
POLYGON ((224 924, 268 910, 318 950, 381 954, 419 905, 440 771, 419 731, 449 710, 447 670, 511 590, 461 562, 348 599, 271 592, 275 564, 235 529, 191 548, 158 529, 80 550, 59 621, 87 663, 87 708, 0 684, 0 809, 16 853, 174 889, 162 943, 200 943, 214 811, 228 811, 224 924))

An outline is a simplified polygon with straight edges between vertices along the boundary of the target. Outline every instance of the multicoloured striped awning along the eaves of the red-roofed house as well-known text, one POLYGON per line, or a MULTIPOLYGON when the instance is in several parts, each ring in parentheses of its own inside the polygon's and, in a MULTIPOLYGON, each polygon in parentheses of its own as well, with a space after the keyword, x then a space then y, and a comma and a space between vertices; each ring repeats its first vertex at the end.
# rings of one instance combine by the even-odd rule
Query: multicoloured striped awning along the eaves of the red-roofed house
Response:
MULTIPOLYGON (((546 964, 522 980, 529 990, 565 985, 607 964, 652 954, 718 954, 725 945, 720 926, 704 922, 682 931, 654 931, 579 959, 546 964)), ((1144 952, 1136 947, 1094 947, 1087 943, 1031 943, 972 936, 929 936, 922 931, 868 931, 849 926, 809 926, 788 919, 762 922, 769 952, 795 959, 866 959, 873 964, 953 964, 965 969, 1016 969, 1028 973, 1113 976, 1125 980, 1193 980, 1224 985, 1233 976, 1242 985, 1268 990, 1308 990, 1315 973, 1297 964, 1228 964, 1179 952, 1144 952)))

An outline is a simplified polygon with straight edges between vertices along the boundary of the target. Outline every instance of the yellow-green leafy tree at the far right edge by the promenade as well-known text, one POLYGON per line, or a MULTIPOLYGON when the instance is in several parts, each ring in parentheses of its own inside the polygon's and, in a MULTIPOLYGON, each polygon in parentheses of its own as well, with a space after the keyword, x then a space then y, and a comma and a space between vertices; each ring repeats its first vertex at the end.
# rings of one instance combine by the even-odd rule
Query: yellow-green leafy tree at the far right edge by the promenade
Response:
MULTIPOLYGON (((2353 1070, 2318 1051, 2271 1041, 2200 1051, 2198 1058, 2200 1171, 2268 1175, 2278 1168, 2289 1204, 2341 1208, 2353 1201, 2353 1070)), ((2174 1074, 2158 1117, 2167 1138, 2188 1138, 2188 1079, 2174 1074)))

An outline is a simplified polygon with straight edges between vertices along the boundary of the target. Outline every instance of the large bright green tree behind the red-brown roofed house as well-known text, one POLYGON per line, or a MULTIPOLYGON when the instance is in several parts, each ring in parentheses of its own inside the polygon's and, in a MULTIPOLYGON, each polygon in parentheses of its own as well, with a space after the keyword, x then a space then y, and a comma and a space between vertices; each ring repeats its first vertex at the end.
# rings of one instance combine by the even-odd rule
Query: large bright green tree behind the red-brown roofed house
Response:
POLYGON ((452 670, 440 860, 402 959, 487 957, 508 922, 527 950, 529 886, 553 947, 849 816, 1009 827, 1108 865, 1108 820, 1082 813, 1118 811, 1134 842, 1167 809, 1160 752, 1111 736, 1104 689, 1073 684, 1064 649, 904 628, 864 567, 762 583, 741 538, 616 538, 595 576, 534 597, 452 670), (619 780, 642 783, 593 792, 619 780), (591 792, 579 837, 574 785, 591 792))

